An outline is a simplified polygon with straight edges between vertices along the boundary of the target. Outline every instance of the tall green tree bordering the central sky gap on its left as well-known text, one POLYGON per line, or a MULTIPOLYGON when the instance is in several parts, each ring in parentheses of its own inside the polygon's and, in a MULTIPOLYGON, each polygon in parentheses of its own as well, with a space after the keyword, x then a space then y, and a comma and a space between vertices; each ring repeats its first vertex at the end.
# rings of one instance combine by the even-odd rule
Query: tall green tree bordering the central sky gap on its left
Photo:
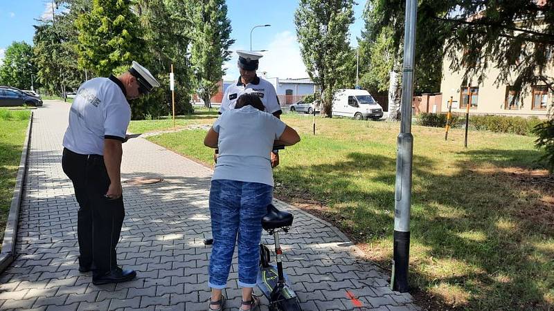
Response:
POLYGON ((224 0, 190 1, 192 24, 191 62, 198 94, 206 107, 217 91, 217 82, 224 75, 223 63, 229 60, 229 48, 235 42, 229 39, 231 21, 227 18, 224 0))

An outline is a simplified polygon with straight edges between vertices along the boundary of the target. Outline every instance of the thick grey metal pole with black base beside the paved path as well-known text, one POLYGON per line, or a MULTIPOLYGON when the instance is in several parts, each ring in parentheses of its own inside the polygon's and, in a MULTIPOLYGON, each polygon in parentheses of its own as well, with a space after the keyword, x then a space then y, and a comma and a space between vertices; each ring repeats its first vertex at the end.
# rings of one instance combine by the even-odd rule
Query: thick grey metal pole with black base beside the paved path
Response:
POLYGON ((396 185, 394 206, 393 272, 391 288, 408 292, 410 253, 411 172, 413 135, 411 135, 411 101, 413 97, 413 64, 415 55, 415 19, 418 0, 406 0, 404 18, 404 65, 402 66, 402 113, 397 138, 396 185))

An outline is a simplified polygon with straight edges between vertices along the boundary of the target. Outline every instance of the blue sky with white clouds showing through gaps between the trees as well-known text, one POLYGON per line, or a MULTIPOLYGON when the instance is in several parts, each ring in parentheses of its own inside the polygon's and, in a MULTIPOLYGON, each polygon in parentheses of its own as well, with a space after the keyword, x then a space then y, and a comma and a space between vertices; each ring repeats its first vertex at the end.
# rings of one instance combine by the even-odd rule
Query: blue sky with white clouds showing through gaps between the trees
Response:
MULTIPOLYGON (((323 0, 322 0, 323 1, 323 0)), ((51 1, 48 0, 0 0, 0 58, 12 41, 26 41, 33 44, 35 19, 51 17, 51 1)), ((361 14, 365 1, 359 0, 355 6, 355 23, 350 26, 350 45, 357 46, 364 23, 361 14)), ((268 50, 260 60, 258 71, 267 72, 268 77, 307 77, 296 42, 294 10, 296 0, 227 0, 229 19, 235 39, 232 50, 249 50, 250 29, 260 24, 270 27, 256 28, 252 33, 252 49, 268 50), (256 3, 253 6, 253 3, 256 3)), ((236 55, 225 65, 225 79, 238 77, 236 55)))

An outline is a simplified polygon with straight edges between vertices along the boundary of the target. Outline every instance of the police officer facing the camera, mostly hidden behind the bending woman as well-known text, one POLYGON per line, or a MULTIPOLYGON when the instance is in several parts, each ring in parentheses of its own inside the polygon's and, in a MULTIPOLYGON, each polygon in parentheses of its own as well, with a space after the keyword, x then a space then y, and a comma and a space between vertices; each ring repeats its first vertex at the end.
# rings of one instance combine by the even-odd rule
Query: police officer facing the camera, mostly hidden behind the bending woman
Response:
MULTIPOLYGON (((280 118, 283 111, 281 110, 273 84, 256 75, 259 64, 258 59, 262 58, 263 55, 247 50, 237 50, 237 54, 240 77, 236 84, 231 84, 226 88, 221 102, 220 114, 229 109, 234 109, 240 95, 250 93, 260 97, 266 112, 280 118)), ((214 160, 216 160, 215 157, 214 160)), ((276 167, 278 164, 279 154, 278 151, 274 150, 271 153, 271 167, 276 167)))

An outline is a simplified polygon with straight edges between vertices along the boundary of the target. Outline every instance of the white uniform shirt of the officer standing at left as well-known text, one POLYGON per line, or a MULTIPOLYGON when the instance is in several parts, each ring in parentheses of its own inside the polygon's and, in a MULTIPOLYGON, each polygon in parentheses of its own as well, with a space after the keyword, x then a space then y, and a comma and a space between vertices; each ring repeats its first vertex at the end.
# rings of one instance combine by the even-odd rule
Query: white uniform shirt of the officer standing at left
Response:
POLYGON ((131 107, 114 76, 84 82, 71 104, 64 147, 80 154, 104 154, 104 139, 125 140, 131 107))

